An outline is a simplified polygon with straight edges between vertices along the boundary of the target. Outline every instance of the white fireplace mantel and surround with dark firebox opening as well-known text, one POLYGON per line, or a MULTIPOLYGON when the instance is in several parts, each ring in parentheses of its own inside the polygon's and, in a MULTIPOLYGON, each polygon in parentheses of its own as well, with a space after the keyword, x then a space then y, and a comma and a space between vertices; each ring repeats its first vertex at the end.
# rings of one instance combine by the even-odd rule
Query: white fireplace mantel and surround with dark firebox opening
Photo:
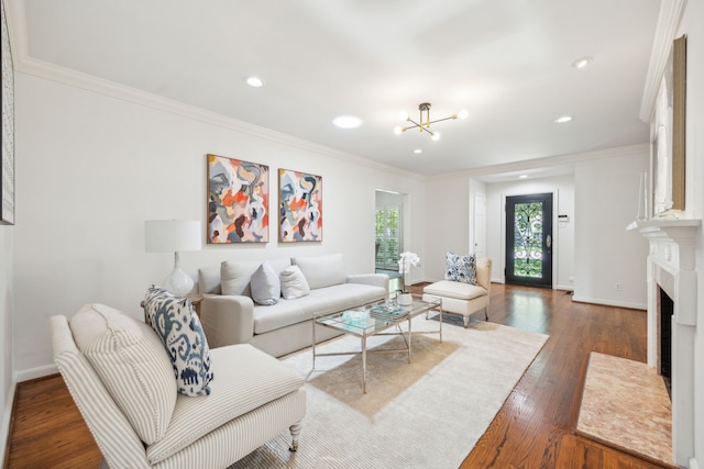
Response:
POLYGON ((637 221, 628 226, 639 230, 650 245, 648 366, 663 378, 669 375, 672 457, 679 466, 688 466, 694 455, 694 241, 700 226, 701 220, 675 219, 637 221))

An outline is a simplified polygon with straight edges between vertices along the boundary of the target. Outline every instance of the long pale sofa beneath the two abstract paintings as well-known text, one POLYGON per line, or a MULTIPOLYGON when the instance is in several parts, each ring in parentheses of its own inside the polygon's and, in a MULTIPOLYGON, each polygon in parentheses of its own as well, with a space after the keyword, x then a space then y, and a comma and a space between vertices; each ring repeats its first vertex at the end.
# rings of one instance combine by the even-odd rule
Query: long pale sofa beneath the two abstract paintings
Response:
MULTIPOLYGON (((334 313, 388 295, 388 276, 383 273, 345 272, 342 254, 267 259, 277 273, 296 265, 304 273, 310 293, 295 300, 278 299, 273 305, 252 300, 249 279, 262 261, 227 261, 244 280, 242 294, 222 294, 219 266, 198 271, 200 322, 211 347, 252 344, 274 357, 280 357, 312 345, 315 314, 334 313)), ((340 333, 327 327, 316 330, 316 340, 322 342, 340 333)))

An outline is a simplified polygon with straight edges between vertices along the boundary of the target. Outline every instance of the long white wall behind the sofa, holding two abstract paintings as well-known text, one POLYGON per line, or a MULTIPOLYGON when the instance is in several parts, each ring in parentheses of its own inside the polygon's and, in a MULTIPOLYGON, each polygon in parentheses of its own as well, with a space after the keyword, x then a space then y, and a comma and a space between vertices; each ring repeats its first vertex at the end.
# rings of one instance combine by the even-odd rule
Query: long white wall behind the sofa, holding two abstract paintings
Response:
POLYGON ((376 187, 409 194, 409 242, 422 244, 422 185, 393 171, 250 125, 213 125, 24 74, 15 92, 19 380, 52 370, 51 315, 102 302, 142 316, 146 288, 173 267, 173 255, 144 253, 145 220, 200 220, 205 243, 208 153, 270 166, 272 226, 266 244, 183 253, 193 276, 226 258, 331 252, 345 255, 350 272, 373 271, 376 187), (278 168, 322 176, 322 243, 276 242, 278 168))

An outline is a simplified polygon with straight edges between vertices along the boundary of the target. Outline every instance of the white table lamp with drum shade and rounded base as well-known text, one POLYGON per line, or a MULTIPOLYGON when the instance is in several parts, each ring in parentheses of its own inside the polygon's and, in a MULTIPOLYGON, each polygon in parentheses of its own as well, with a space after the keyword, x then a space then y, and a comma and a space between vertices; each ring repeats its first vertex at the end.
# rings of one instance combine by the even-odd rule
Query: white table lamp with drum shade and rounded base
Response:
POLYGON ((180 269, 178 253, 200 250, 200 222, 150 220, 144 222, 144 238, 147 253, 174 253, 174 270, 162 287, 176 297, 186 297, 194 288, 194 279, 180 269))

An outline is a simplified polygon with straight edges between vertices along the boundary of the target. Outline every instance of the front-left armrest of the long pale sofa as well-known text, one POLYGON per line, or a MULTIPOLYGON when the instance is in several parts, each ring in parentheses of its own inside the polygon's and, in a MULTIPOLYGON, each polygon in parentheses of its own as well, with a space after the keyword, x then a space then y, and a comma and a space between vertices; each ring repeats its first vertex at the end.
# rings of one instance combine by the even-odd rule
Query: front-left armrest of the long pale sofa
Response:
POLYGON ((246 344, 254 335, 254 302, 250 297, 205 294, 200 323, 209 347, 246 344))

